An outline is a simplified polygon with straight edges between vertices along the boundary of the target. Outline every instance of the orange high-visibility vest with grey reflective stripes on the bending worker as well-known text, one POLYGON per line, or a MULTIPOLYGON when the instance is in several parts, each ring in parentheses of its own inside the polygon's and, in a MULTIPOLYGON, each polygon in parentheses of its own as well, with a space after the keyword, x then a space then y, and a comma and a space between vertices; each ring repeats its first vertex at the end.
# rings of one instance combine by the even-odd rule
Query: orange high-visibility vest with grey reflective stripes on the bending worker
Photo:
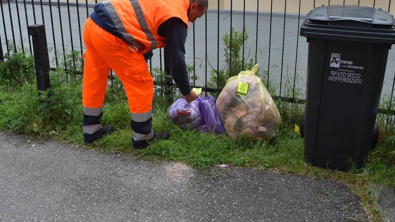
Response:
POLYGON ((94 6, 92 20, 143 53, 165 46, 158 27, 171 17, 188 26, 189 0, 105 0, 94 6), (100 19, 98 19, 100 18, 100 19))

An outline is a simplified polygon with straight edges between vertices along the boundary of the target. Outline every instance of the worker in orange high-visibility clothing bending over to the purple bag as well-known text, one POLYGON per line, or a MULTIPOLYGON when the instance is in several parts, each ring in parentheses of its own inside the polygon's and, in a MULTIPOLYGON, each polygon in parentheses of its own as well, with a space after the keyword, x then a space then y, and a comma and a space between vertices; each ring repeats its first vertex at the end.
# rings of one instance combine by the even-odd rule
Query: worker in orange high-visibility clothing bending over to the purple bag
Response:
POLYGON ((189 22, 205 14, 207 0, 105 0, 94 6, 84 26, 83 135, 93 143, 112 132, 102 127, 104 94, 110 69, 124 85, 130 109, 135 149, 154 139, 168 139, 166 131, 152 131, 154 82, 145 54, 166 46, 171 75, 190 103, 198 98, 191 90, 185 64, 189 22))

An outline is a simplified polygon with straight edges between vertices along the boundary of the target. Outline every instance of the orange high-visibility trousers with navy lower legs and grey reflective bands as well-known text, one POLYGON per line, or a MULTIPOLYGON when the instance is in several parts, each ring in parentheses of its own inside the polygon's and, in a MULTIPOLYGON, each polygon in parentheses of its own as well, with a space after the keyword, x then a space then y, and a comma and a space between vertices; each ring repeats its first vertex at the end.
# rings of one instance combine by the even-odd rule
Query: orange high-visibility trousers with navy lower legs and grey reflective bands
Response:
POLYGON ((85 23, 83 36, 86 45, 82 89, 85 142, 92 143, 102 135, 100 119, 112 69, 128 97, 134 145, 147 143, 154 135, 151 130, 154 82, 143 53, 103 30, 90 18, 85 23))

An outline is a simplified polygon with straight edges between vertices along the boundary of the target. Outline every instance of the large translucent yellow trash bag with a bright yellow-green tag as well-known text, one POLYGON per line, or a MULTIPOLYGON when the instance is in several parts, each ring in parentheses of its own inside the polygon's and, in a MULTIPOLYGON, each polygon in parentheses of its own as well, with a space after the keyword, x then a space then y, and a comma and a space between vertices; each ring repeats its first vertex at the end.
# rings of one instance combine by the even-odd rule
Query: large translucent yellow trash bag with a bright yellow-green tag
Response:
POLYGON ((260 77, 252 70, 231 77, 216 102, 216 109, 229 137, 247 134, 251 140, 275 137, 282 123, 280 113, 260 77))

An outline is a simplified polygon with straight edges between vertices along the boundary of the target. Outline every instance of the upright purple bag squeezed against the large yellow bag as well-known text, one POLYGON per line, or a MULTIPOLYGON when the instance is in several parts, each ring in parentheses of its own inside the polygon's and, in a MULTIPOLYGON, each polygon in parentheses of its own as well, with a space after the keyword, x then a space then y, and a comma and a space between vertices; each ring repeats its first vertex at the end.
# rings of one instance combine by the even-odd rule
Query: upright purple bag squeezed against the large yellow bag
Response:
POLYGON ((220 135, 225 132, 224 126, 222 125, 221 119, 215 108, 215 98, 213 95, 209 95, 203 99, 200 104, 200 109, 203 114, 203 123, 198 126, 198 129, 203 134, 214 133, 220 135))

